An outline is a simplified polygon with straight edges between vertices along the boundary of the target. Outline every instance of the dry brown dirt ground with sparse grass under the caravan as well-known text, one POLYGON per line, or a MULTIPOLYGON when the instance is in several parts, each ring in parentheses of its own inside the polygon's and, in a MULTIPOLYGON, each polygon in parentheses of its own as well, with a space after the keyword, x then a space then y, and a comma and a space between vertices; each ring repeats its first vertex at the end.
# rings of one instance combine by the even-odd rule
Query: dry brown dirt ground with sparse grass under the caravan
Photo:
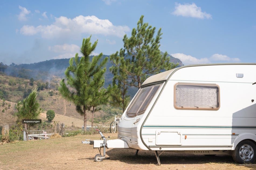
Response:
MULTIPOLYGON (((103 134, 116 139, 117 134, 103 134)), ((164 152, 157 165, 153 151, 107 149, 107 160, 95 162, 99 154, 85 139, 100 139, 100 135, 80 135, 45 140, 0 144, 0 169, 256 169, 256 164, 239 165, 231 156, 203 156, 164 152)), ((103 154, 103 149, 101 149, 103 154)))

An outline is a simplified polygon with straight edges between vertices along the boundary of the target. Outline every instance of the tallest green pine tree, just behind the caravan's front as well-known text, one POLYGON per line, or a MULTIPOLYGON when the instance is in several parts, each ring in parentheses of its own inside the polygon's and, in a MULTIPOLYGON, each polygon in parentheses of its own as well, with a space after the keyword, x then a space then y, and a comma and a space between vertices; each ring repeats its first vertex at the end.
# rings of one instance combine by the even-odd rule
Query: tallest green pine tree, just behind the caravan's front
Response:
POLYGON ((126 95, 129 86, 140 88, 149 76, 178 65, 170 62, 167 52, 162 55, 159 50, 161 28, 154 37, 156 28, 143 23, 143 17, 140 17, 137 29, 132 29, 130 38, 124 35, 124 49, 110 55, 113 84, 117 84, 119 89, 112 96, 112 105, 121 106, 123 111, 129 102, 129 96, 126 95))

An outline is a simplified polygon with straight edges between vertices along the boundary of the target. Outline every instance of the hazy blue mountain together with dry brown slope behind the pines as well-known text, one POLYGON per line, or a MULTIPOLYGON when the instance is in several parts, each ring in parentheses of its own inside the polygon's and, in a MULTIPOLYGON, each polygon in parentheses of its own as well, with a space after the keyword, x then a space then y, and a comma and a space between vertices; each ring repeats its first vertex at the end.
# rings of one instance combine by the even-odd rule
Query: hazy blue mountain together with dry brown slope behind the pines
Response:
MULTIPOLYGON (((105 57, 109 58, 110 56, 103 55, 103 58, 105 57)), ((171 62, 179 63, 180 66, 183 65, 179 59, 172 56, 170 58, 171 62)), ((16 123, 17 117, 14 116, 16 112, 15 105, 17 102, 26 98, 36 87, 41 87, 38 90, 37 98, 40 101, 44 113, 47 110, 54 110, 57 115, 83 120, 83 117, 76 112, 75 106, 71 102, 65 101, 57 90, 68 66, 69 59, 54 59, 33 64, 16 65, 13 63, 10 66, 1 62, 0 99, 4 100, 0 100, 0 125, 16 123), (33 79, 32 83, 31 78, 33 79)), ((112 64, 108 60, 104 87, 112 84, 113 74, 109 71, 111 66, 112 64)), ((129 88, 128 95, 132 98, 137 90, 135 87, 129 88)), ((103 109, 105 112, 99 111, 95 113, 94 122, 103 123, 100 121, 111 118, 112 113, 121 113, 116 108, 103 106, 103 109)), ((88 111, 87 120, 89 121, 91 118, 92 113, 88 111)), ((106 123, 111 123, 111 120, 106 123)))

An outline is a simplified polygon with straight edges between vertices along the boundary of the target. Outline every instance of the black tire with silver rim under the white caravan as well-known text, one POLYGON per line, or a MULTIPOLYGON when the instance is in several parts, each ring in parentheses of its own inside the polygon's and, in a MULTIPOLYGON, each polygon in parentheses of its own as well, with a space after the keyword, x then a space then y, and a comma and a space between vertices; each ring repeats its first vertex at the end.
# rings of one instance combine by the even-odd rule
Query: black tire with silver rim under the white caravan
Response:
POLYGON ((233 160, 239 164, 253 163, 256 160, 256 145, 249 140, 243 140, 232 150, 233 160))

